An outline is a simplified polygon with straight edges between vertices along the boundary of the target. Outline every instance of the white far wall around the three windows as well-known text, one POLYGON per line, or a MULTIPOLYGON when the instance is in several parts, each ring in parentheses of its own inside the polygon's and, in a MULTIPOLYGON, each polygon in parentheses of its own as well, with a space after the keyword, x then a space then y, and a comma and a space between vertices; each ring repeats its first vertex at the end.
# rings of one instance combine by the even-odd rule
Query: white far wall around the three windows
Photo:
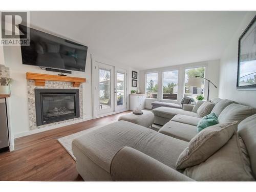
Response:
MULTIPOLYGON (((155 68, 149 70, 140 71, 140 86, 143 93, 145 93, 145 74, 149 72, 158 72, 158 93, 160 93, 162 89, 162 72, 163 71, 171 71, 171 70, 179 70, 178 74, 178 98, 177 101, 174 100, 161 100, 161 95, 158 96, 158 99, 146 99, 145 107, 147 109, 151 109, 151 103, 153 101, 162 101, 162 102, 173 102, 180 103, 181 99, 184 95, 184 79, 185 79, 185 69, 194 68, 194 67, 205 67, 205 78, 209 79, 213 83, 216 84, 217 89, 213 86, 210 86, 210 94, 209 99, 218 97, 219 92, 219 60, 211 60, 211 61, 202 61, 202 62, 194 62, 187 63, 183 65, 170 66, 165 68, 155 68)), ((208 85, 205 83, 205 92, 204 97, 207 98, 207 90, 208 85)))

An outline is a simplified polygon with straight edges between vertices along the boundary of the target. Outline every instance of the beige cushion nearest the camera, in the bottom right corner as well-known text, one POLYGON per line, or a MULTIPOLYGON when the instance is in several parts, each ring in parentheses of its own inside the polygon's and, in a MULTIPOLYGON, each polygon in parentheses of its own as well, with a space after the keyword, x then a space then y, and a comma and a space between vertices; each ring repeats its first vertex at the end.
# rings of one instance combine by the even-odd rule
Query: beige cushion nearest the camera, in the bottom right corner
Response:
POLYGON ((237 133, 205 162, 186 168, 183 174, 197 181, 254 181, 237 133))

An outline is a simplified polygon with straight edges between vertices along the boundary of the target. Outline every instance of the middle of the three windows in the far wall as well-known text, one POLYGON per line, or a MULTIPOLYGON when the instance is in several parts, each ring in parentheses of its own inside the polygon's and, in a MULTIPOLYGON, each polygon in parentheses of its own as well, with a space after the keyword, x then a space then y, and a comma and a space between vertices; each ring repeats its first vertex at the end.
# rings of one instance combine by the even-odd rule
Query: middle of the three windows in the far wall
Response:
POLYGON ((177 100, 178 70, 163 72, 163 99, 177 100))

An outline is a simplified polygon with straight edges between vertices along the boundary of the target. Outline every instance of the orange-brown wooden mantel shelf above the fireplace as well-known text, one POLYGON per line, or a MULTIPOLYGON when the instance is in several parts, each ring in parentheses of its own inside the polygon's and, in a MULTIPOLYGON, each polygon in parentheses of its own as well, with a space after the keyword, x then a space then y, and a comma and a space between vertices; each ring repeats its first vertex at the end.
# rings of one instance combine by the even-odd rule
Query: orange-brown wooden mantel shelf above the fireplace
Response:
POLYGON ((46 80, 73 82, 73 87, 79 87, 81 82, 86 82, 86 78, 48 75, 48 74, 29 73, 29 72, 27 73, 27 79, 35 80, 35 86, 45 86, 46 80))

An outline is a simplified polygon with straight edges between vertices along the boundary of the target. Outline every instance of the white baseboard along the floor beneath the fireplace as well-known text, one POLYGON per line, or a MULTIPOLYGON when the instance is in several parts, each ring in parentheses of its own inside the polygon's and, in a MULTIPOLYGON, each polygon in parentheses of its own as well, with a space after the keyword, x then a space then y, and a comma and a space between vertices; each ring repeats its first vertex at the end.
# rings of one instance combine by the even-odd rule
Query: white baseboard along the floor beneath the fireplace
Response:
POLYGON ((19 138, 19 137, 28 136, 28 135, 33 135, 33 134, 44 132, 44 131, 57 129, 61 126, 67 126, 67 125, 71 125, 71 124, 75 124, 75 123, 80 123, 80 122, 83 122, 83 121, 88 121, 88 120, 91 120, 91 119, 92 119, 91 116, 90 117, 84 117, 83 119, 78 119, 78 120, 75 120, 75 121, 69 121, 69 122, 66 122, 66 123, 60 123, 60 124, 56 124, 56 125, 52 125, 52 126, 48 126, 48 127, 43 127, 43 128, 38 129, 38 130, 32 130, 32 131, 28 131, 28 132, 18 133, 18 134, 14 135, 14 139, 19 138))

